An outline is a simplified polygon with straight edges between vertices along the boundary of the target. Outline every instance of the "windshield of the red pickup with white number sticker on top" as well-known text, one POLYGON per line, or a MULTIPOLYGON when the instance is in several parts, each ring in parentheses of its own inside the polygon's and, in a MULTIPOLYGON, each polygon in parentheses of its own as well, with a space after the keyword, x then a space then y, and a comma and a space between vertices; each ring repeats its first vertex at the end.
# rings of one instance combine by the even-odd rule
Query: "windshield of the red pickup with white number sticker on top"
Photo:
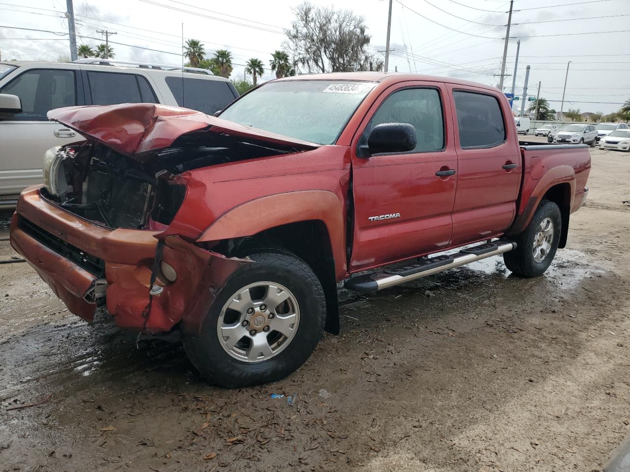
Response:
POLYGON ((235 101, 224 120, 319 144, 332 144, 376 84, 351 81, 271 82, 235 101))

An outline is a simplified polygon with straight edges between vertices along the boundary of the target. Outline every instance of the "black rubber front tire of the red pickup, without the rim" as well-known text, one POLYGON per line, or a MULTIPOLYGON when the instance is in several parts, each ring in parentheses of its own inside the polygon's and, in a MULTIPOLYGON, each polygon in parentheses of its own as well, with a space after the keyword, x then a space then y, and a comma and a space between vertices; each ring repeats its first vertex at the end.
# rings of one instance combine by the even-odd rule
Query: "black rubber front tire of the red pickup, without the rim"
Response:
MULTIPOLYGON (((183 335, 188 358, 212 383, 244 387, 274 382, 297 370, 311 356, 324 330, 326 301, 319 279, 306 262, 282 249, 258 249, 249 254, 254 261, 238 269, 215 298, 203 323, 202 335, 183 335), (281 284, 295 296, 299 306, 297 331, 289 344, 270 359, 244 362, 222 347, 217 322, 226 303, 242 288, 268 281, 281 284)), ((264 335, 259 333, 258 335, 264 335)))

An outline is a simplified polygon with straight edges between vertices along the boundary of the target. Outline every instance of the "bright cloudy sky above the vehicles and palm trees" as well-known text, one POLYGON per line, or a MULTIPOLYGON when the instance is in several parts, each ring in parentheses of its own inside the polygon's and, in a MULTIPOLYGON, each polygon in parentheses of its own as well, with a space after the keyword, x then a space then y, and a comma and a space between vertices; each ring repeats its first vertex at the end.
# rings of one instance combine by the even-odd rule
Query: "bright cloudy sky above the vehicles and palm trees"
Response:
MULTIPOLYGON (((98 30, 115 31, 110 41, 116 59, 181 64, 183 23, 184 37, 201 40, 208 54, 217 48, 231 50, 232 78, 243 77, 243 64, 251 57, 268 67, 270 52, 282 48, 283 30, 298 3, 75 0, 77 43, 95 46, 102 42, 98 30)), ((331 5, 325 0, 311 3, 331 5)), ((364 16, 372 36, 371 52, 381 54, 387 0, 334 5, 364 16)), ((390 69, 496 86, 498 77, 493 74, 500 72, 508 9, 509 1, 502 0, 394 0, 390 69)), ((69 55, 65 11, 66 0, 0 0, 2 59, 54 60, 69 55)), ((506 73, 513 74, 520 38, 517 94, 522 94, 529 64, 528 94, 536 96, 541 81, 541 96, 559 110, 571 61, 565 111, 609 113, 630 97, 630 0, 515 0, 512 24, 506 73)), ((271 71, 265 70, 263 80, 271 78, 271 71)), ((505 91, 511 89, 512 76, 505 79, 505 91)))

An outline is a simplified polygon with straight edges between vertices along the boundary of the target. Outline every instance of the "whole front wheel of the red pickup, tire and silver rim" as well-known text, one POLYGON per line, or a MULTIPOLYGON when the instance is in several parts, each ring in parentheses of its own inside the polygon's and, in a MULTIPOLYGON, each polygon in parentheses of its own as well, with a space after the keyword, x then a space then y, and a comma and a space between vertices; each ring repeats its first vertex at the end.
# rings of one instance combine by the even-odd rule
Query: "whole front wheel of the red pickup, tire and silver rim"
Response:
POLYGON ((317 346, 326 320, 323 288, 304 261, 284 251, 249 257, 253 262, 232 274, 212 303, 203 334, 183 337, 200 373, 227 387, 293 373, 317 346))

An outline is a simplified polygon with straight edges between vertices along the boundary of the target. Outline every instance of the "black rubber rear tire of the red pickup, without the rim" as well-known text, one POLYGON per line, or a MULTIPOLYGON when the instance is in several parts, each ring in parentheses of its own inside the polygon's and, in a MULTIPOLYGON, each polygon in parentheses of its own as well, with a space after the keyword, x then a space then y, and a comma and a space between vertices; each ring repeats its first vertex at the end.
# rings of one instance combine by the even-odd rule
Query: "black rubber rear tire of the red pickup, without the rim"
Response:
POLYGON ((537 277, 547 270, 554 256, 556 256, 556 250, 558 250, 558 242, 560 240, 560 233, 562 232, 562 215, 560 208, 553 201, 543 200, 536 209, 532 220, 530 221, 524 232, 515 237, 517 248, 509 252, 503 253, 503 261, 505 266, 522 277, 537 277), (546 257, 542 261, 537 262, 534 259, 534 240, 536 239, 536 233, 545 218, 551 218, 553 222, 553 240, 551 242, 551 249, 547 253, 546 257))

